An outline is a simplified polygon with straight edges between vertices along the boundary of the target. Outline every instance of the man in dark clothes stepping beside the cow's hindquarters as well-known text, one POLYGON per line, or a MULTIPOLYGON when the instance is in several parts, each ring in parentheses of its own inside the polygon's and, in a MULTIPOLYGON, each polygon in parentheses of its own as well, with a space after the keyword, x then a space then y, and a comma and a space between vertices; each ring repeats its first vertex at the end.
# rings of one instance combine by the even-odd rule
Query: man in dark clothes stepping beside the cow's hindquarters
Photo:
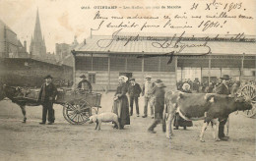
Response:
POLYGON ((156 86, 153 89, 153 95, 155 96, 155 120, 151 127, 148 129, 148 132, 151 134, 156 134, 154 129, 157 127, 158 124, 162 121, 162 112, 164 108, 164 94, 166 87, 161 80, 156 80, 156 86))

